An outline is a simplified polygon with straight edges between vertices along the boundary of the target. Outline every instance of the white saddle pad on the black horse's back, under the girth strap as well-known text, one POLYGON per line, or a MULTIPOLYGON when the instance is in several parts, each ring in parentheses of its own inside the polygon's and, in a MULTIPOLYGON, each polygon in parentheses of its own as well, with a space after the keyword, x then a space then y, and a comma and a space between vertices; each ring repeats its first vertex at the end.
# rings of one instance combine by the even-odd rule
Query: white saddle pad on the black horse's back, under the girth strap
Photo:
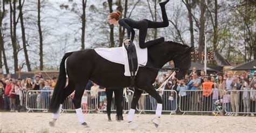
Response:
MULTIPOLYGON (((139 68, 139 65, 147 64, 147 48, 141 49, 135 43, 134 45, 136 47, 136 52, 138 57, 138 68, 139 68)), ((128 57, 127 57, 127 51, 124 45, 122 47, 116 47, 116 48, 96 48, 95 51, 98 55, 102 56, 108 61, 123 64, 125 69, 124 75, 131 76, 128 57)), ((137 70, 135 75, 137 74, 137 70)))

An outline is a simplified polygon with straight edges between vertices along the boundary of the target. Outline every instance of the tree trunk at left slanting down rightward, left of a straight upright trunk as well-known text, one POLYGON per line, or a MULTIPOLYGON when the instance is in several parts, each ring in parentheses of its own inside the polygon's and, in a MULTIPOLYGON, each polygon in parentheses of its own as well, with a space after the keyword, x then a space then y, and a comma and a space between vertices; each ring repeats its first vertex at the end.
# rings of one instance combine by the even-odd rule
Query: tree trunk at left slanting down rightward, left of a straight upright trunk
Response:
POLYGON ((24 28, 24 23, 23 23, 23 12, 22 12, 22 8, 23 8, 23 4, 24 4, 25 0, 23 1, 23 3, 21 3, 21 1, 22 0, 19 0, 19 18, 21 19, 22 43, 23 43, 23 50, 24 50, 24 54, 25 54, 26 67, 28 68, 28 71, 31 71, 28 50, 26 50, 25 28, 24 28))

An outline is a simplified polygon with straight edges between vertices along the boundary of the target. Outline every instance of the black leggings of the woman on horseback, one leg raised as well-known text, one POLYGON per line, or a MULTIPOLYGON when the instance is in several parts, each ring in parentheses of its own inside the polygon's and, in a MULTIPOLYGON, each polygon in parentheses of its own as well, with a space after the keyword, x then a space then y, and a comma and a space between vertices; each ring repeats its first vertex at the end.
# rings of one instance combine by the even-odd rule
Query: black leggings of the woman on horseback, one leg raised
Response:
POLYGON ((139 25, 139 47, 146 48, 152 45, 152 41, 146 42, 147 28, 163 28, 169 26, 169 21, 165 11, 165 6, 161 6, 163 22, 150 21, 148 19, 143 19, 138 21, 139 25))

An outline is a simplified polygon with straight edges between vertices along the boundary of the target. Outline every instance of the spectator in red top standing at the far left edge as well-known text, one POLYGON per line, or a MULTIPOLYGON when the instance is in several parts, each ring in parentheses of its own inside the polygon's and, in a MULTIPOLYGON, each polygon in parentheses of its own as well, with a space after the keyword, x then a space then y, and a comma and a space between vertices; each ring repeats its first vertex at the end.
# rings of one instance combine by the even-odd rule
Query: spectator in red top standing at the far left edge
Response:
POLYGON ((4 110, 5 111, 8 111, 10 110, 10 105, 11 105, 11 102, 10 102, 10 91, 11 91, 11 86, 12 84, 10 83, 10 80, 5 80, 5 89, 4 89, 4 110))

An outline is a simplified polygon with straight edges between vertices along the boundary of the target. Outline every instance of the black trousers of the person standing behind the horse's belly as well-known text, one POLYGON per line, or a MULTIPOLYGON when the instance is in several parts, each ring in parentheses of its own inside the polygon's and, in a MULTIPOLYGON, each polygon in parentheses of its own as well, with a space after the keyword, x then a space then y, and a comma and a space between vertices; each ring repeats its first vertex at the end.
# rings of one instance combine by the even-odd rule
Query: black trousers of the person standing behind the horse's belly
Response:
POLYGON ((114 92, 114 100, 116 100, 116 107, 117 107, 117 116, 123 115, 123 91, 124 89, 111 89, 106 88, 106 97, 107 97, 107 116, 111 114, 111 105, 112 105, 112 95, 114 92))

